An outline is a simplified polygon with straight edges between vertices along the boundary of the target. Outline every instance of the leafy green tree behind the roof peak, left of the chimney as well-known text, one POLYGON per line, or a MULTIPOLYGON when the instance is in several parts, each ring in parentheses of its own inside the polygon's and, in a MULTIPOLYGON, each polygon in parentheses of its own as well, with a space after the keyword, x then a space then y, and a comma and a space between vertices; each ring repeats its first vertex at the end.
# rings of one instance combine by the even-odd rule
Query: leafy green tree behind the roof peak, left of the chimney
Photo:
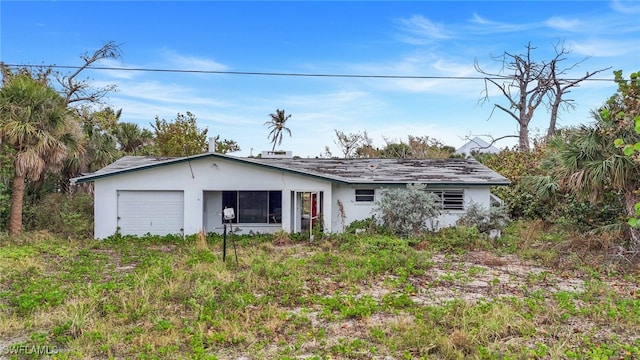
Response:
POLYGON ((194 114, 178 113, 175 120, 167 122, 156 116, 154 130, 154 153, 158 156, 190 156, 207 151, 208 129, 200 130, 194 114))

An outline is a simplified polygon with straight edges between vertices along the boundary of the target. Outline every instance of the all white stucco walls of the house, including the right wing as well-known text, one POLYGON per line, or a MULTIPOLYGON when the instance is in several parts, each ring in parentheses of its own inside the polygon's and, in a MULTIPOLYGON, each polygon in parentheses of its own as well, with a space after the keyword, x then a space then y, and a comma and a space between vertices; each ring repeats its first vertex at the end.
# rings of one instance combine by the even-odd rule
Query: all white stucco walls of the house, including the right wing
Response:
MULTIPOLYGON (((403 186, 404 185, 398 185, 403 186)), ((372 216, 374 203, 355 201, 355 189, 375 189, 376 185, 348 185, 311 176, 270 169, 263 166, 205 157, 190 162, 157 166, 143 171, 121 173, 95 180, 95 230, 98 239, 116 233, 117 192, 119 190, 179 190, 184 192, 184 234, 201 230, 222 232, 220 191, 282 191, 282 224, 238 224, 242 234, 275 232, 282 229, 293 232, 291 192, 322 192, 324 229, 341 232, 355 220, 372 216), (338 200, 342 206, 339 206, 338 200)), ((435 188, 435 187, 434 187, 435 188)), ((472 202, 489 207, 489 186, 447 187, 464 189, 465 205, 472 202)), ((449 211, 438 219, 438 226, 454 225, 463 211, 449 211)))

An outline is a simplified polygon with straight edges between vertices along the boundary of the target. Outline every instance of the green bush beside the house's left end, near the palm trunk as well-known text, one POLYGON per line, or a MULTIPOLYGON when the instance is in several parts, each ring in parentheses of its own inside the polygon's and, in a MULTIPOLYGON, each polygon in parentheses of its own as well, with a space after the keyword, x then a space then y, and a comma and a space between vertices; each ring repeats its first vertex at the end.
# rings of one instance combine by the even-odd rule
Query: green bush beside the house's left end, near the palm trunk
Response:
POLYGON ((86 194, 48 194, 25 217, 25 228, 65 237, 92 238, 93 199, 86 194))

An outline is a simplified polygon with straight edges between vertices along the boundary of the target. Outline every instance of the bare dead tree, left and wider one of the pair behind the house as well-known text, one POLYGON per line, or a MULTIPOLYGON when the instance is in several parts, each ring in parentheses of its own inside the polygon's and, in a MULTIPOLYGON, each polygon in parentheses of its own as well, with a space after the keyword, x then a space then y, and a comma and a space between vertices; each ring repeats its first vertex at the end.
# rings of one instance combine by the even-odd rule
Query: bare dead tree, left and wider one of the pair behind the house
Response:
POLYGON ((496 103, 494 109, 504 111, 518 123, 518 147, 521 151, 529 150, 529 123, 535 110, 543 103, 550 86, 546 76, 548 65, 532 60, 531 51, 535 48, 531 43, 527 44, 526 49, 526 54, 516 55, 505 51, 501 56, 494 58, 502 62, 498 74, 487 72, 480 67, 477 60, 474 62, 476 71, 487 76, 483 91, 485 96, 481 102, 489 101, 489 84, 497 87, 507 98, 508 107, 496 103), (512 75, 503 75, 504 72, 512 75))

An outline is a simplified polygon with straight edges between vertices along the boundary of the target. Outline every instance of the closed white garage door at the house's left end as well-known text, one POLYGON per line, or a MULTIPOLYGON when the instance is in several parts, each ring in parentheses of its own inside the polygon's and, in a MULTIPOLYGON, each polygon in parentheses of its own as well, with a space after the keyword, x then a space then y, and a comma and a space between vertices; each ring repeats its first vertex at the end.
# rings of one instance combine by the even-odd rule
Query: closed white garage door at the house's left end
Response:
POLYGON ((122 235, 182 234, 182 191, 118 191, 118 228, 122 235))

